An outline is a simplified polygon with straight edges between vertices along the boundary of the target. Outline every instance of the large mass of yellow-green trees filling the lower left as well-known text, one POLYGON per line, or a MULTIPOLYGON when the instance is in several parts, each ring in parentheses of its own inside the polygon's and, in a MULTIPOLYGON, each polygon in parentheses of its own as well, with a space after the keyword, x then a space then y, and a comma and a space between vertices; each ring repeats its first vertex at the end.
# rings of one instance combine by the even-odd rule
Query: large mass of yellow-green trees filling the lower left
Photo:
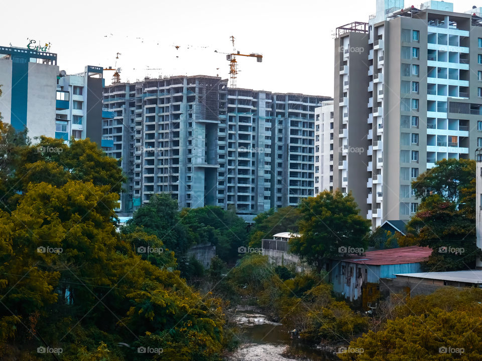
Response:
POLYGON ((89 140, 18 146, 4 173, 14 191, 0 196, 0 358, 221 359, 220 300, 192 290, 155 235, 116 231, 117 162, 89 140))

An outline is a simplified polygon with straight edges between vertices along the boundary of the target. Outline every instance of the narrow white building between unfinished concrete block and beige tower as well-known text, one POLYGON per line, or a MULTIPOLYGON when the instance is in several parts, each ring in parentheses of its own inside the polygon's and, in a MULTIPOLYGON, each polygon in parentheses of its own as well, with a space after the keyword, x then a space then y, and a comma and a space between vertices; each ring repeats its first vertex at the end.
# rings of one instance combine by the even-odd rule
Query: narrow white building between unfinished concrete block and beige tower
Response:
POLYGON ((315 108, 315 192, 333 190, 334 153, 333 100, 326 100, 315 108))

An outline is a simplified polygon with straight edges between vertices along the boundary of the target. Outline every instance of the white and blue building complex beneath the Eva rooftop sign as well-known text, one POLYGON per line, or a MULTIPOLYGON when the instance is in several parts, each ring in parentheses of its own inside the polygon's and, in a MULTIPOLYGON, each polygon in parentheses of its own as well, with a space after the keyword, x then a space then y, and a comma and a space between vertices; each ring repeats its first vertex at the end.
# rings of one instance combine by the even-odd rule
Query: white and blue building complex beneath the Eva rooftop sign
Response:
POLYGON ((90 138, 100 145, 102 118, 111 116, 102 112, 102 68, 67 75, 47 50, 0 47, 2 121, 27 128, 30 138, 90 138))

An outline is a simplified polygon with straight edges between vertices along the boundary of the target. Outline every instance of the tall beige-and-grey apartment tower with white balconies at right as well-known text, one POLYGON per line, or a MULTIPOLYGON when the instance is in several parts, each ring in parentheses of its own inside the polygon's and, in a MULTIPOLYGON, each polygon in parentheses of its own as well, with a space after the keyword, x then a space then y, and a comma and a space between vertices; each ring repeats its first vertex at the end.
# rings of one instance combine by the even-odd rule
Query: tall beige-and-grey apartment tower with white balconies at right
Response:
POLYGON ((482 145, 480 15, 446 2, 377 0, 368 23, 338 29, 334 123, 343 148, 335 163, 345 159, 345 127, 348 153, 347 183, 340 169, 333 187, 353 191, 373 227, 417 212, 411 182, 435 161, 473 159, 482 145), (350 152, 357 147, 359 156, 350 152))

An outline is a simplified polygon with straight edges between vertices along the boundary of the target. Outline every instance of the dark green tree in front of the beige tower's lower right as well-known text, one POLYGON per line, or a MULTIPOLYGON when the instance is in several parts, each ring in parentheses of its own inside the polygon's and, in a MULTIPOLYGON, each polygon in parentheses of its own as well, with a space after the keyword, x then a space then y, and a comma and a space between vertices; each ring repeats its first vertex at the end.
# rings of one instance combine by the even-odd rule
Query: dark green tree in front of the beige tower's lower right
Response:
POLYGON ((475 161, 443 159, 412 187, 422 202, 401 245, 433 249, 427 271, 467 269, 480 253, 475 243, 475 161))

